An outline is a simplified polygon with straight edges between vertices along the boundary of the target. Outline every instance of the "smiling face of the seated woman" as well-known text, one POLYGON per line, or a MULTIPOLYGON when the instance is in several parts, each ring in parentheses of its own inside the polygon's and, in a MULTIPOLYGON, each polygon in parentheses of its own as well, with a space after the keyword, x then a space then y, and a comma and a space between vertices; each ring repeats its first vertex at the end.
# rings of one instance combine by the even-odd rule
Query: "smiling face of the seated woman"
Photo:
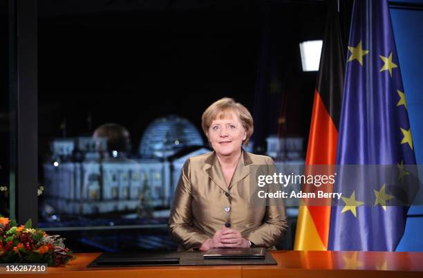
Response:
POLYGON ((243 140, 247 138, 243 124, 234 112, 227 113, 223 120, 213 120, 207 133, 209 142, 216 154, 230 156, 241 150, 243 140))

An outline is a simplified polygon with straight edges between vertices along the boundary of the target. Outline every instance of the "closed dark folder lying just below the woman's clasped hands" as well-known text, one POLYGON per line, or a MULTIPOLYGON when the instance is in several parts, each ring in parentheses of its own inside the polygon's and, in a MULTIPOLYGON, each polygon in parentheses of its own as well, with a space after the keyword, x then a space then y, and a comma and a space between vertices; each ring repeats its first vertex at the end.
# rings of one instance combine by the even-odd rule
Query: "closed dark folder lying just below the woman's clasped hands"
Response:
POLYGON ((212 248, 204 259, 265 259, 265 248, 212 248))

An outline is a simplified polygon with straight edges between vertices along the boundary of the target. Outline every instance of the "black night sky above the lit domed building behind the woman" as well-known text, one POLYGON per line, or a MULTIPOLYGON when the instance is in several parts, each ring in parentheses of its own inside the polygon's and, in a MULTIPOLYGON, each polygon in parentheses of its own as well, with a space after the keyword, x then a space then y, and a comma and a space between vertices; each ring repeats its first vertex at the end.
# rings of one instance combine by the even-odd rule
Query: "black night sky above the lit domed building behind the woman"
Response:
MULTIPOLYGON (((40 154, 52 138, 62 135, 59 127, 65 118, 67 136, 90 134, 90 113, 93 129, 106 122, 129 129, 135 150, 147 124, 169 113, 188 118, 200 129, 201 113, 224 96, 254 113, 260 73, 268 75, 264 82, 269 88, 277 75, 276 93, 290 96, 276 98, 269 107, 274 121, 265 115, 261 121, 266 129, 256 130, 265 137, 277 129, 267 125, 276 124, 283 106, 279 102, 285 100, 292 111, 288 131, 306 137, 316 73, 302 73, 298 44, 323 37, 326 6, 266 8, 264 3, 269 2, 60 15, 41 7, 40 14, 48 15, 39 17, 38 26, 40 154), (270 29, 265 28, 266 10, 270 29), (270 51, 263 49, 266 32, 270 51)), ((263 113, 263 107, 257 113, 263 113)))

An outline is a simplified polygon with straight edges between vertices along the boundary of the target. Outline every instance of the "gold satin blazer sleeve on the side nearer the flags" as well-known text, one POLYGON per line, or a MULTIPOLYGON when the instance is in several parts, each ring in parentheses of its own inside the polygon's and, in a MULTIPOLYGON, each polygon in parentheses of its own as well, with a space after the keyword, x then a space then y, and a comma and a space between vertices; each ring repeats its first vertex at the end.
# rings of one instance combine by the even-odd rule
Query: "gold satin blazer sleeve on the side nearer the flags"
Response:
MULTIPOLYGON (((266 158, 269 174, 276 171, 272 158, 266 158)), ((268 192, 276 192, 277 187, 270 186, 268 192)), ((270 198, 267 200, 263 223, 247 233, 245 239, 259 247, 270 248, 280 241, 288 228, 285 205, 282 198, 270 198)))

